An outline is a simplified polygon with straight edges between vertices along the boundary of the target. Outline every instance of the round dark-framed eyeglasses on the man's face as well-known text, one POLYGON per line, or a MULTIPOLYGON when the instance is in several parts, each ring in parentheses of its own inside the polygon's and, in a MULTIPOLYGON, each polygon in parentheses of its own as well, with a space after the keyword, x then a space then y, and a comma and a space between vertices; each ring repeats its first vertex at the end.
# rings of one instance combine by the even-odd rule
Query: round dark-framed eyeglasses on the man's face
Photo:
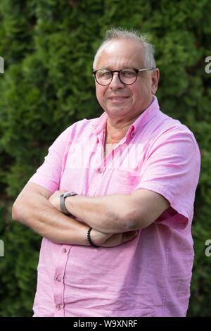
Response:
POLYGON ((120 82, 125 85, 132 85, 136 82, 136 79, 140 72, 153 70, 155 68, 143 68, 143 69, 135 69, 135 68, 124 68, 121 70, 108 70, 108 69, 98 69, 93 72, 94 78, 99 85, 109 85, 113 80, 113 74, 118 73, 118 77, 120 82))

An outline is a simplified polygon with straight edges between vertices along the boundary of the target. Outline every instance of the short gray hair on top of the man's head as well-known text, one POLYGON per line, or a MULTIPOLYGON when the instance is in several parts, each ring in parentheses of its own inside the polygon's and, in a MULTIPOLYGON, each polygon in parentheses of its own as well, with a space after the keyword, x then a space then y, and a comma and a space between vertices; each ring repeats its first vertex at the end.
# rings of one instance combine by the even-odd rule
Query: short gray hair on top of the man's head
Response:
POLYGON ((143 54, 141 56, 143 57, 143 63, 146 66, 146 68, 155 68, 155 58, 154 53, 155 49, 153 44, 150 44, 146 41, 145 35, 140 35, 139 32, 136 30, 127 30, 122 28, 111 28, 106 31, 105 38, 103 39, 102 44, 99 46, 98 50, 96 51, 96 55, 94 56, 94 62, 93 62, 93 69, 96 69, 96 63, 98 61, 98 58, 101 54, 101 51, 105 48, 106 44, 112 40, 117 39, 129 39, 134 40, 136 42, 139 42, 143 48, 143 54))

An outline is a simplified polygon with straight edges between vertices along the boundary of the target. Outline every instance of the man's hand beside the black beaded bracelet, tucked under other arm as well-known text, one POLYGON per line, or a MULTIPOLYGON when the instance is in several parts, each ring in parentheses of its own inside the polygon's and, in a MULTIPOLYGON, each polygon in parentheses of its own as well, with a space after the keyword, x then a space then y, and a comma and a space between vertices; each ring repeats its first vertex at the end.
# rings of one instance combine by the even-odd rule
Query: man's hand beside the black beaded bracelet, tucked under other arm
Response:
POLYGON ((139 234, 139 231, 129 231, 123 233, 103 233, 91 229, 90 237, 93 244, 102 247, 115 247, 129 242, 139 234))

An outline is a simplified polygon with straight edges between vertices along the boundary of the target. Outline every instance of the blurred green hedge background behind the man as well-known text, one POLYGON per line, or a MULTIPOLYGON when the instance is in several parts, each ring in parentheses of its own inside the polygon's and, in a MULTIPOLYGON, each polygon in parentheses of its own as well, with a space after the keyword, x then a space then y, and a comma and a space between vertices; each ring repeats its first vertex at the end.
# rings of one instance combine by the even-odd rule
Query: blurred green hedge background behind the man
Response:
POLYGON ((11 206, 60 132, 101 114, 91 66, 109 27, 139 30, 155 44, 160 107, 200 145, 188 316, 211 316, 210 13, 210 0, 1 0, 0 316, 32 315, 41 238, 11 220, 11 206))

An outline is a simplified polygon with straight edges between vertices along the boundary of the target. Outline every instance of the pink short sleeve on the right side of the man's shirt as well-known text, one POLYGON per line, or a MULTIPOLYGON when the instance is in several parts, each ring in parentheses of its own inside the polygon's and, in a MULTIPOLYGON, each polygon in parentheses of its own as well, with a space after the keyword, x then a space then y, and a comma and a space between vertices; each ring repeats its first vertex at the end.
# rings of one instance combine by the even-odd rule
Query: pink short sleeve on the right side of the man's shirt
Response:
POLYGON ((148 150, 135 189, 162 194, 177 213, 192 219, 199 173, 200 152, 195 138, 191 132, 174 129, 148 150))

